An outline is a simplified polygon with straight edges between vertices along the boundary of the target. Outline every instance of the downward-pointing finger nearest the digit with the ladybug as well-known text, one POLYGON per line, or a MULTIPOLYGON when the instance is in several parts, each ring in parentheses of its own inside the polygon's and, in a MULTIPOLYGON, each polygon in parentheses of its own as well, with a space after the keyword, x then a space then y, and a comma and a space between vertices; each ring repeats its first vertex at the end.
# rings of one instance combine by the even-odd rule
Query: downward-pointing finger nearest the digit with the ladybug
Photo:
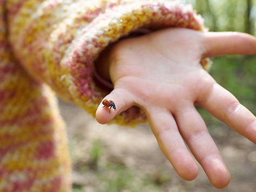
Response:
POLYGON ((150 111, 147 110, 147 116, 161 151, 178 175, 189 181, 195 179, 198 167, 188 152, 170 111, 163 108, 151 108, 150 111))

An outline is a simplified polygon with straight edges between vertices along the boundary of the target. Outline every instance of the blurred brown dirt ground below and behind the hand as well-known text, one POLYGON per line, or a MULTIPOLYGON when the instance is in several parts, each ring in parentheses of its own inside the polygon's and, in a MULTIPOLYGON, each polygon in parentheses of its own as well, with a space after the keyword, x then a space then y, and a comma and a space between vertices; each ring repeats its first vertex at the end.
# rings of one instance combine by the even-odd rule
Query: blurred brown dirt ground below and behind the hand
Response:
MULTIPOLYGON (((95 119, 76 106, 63 101, 59 102, 59 106, 67 125, 73 161, 73 182, 76 186, 80 186, 76 191, 101 191, 97 188, 99 180, 96 170, 81 171, 83 163, 89 163, 92 143, 97 140, 100 140, 103 146, 100 157, 97 157, 99 163, 111 161, 124 164, 136 170, 136 173, 153 175, 156 177, 155 181, 159 181, 156 182, 159 183, 156 191, 219 191, 211 185, 199 165, 200 171, 196 180, 187 182, 180 179, 160 152, 149 125, 136 128, 99 125, 95 119), (164 181, 162 181, 163 175, 167 178, 164 181)), ((255 192, 256 145, 221 123, 210 132, 232 176, 229 186, 221 191, 255 192)), ((130 190, 122 190, 122 192, 128 191, 130 190)))

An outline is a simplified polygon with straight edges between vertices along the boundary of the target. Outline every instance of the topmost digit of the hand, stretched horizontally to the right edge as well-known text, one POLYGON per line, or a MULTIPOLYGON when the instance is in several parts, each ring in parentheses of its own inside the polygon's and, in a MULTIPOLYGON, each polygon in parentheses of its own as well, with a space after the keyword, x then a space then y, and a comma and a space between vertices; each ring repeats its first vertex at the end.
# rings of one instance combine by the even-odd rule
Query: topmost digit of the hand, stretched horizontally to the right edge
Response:
POLYGON ((240 32, 204 33, 204 57, 225 54, 256 54, 256 38, 240 32))

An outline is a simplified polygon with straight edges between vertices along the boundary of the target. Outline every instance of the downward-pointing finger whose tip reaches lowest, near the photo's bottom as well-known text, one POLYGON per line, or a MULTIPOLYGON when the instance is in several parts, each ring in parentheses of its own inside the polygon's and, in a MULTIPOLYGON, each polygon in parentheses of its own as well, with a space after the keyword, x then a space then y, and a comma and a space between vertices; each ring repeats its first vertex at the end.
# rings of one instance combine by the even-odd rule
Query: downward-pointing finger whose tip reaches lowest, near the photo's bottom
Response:
POLYGON ((205 170, 213 186, 226 187, 230 182, 230 173, 196 108, 191 104, 190 107, 177 111, 174 117, 180 134, 205 170))

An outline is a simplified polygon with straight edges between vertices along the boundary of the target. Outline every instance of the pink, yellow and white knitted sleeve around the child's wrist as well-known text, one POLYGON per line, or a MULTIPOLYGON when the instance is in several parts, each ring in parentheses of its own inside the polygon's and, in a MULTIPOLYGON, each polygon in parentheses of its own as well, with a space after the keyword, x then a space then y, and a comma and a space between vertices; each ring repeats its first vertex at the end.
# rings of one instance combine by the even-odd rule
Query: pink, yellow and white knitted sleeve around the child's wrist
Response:
MULTIPOLYGON (((93 80, 93 62, 107 45, 141 28, 204 30, 191 6, 176 1, 9 0, 7 7, 10 43, 25 70, 93 115, 107 94, 93 80)), ((137 108, 116 117, 145 119, 137 108)))

